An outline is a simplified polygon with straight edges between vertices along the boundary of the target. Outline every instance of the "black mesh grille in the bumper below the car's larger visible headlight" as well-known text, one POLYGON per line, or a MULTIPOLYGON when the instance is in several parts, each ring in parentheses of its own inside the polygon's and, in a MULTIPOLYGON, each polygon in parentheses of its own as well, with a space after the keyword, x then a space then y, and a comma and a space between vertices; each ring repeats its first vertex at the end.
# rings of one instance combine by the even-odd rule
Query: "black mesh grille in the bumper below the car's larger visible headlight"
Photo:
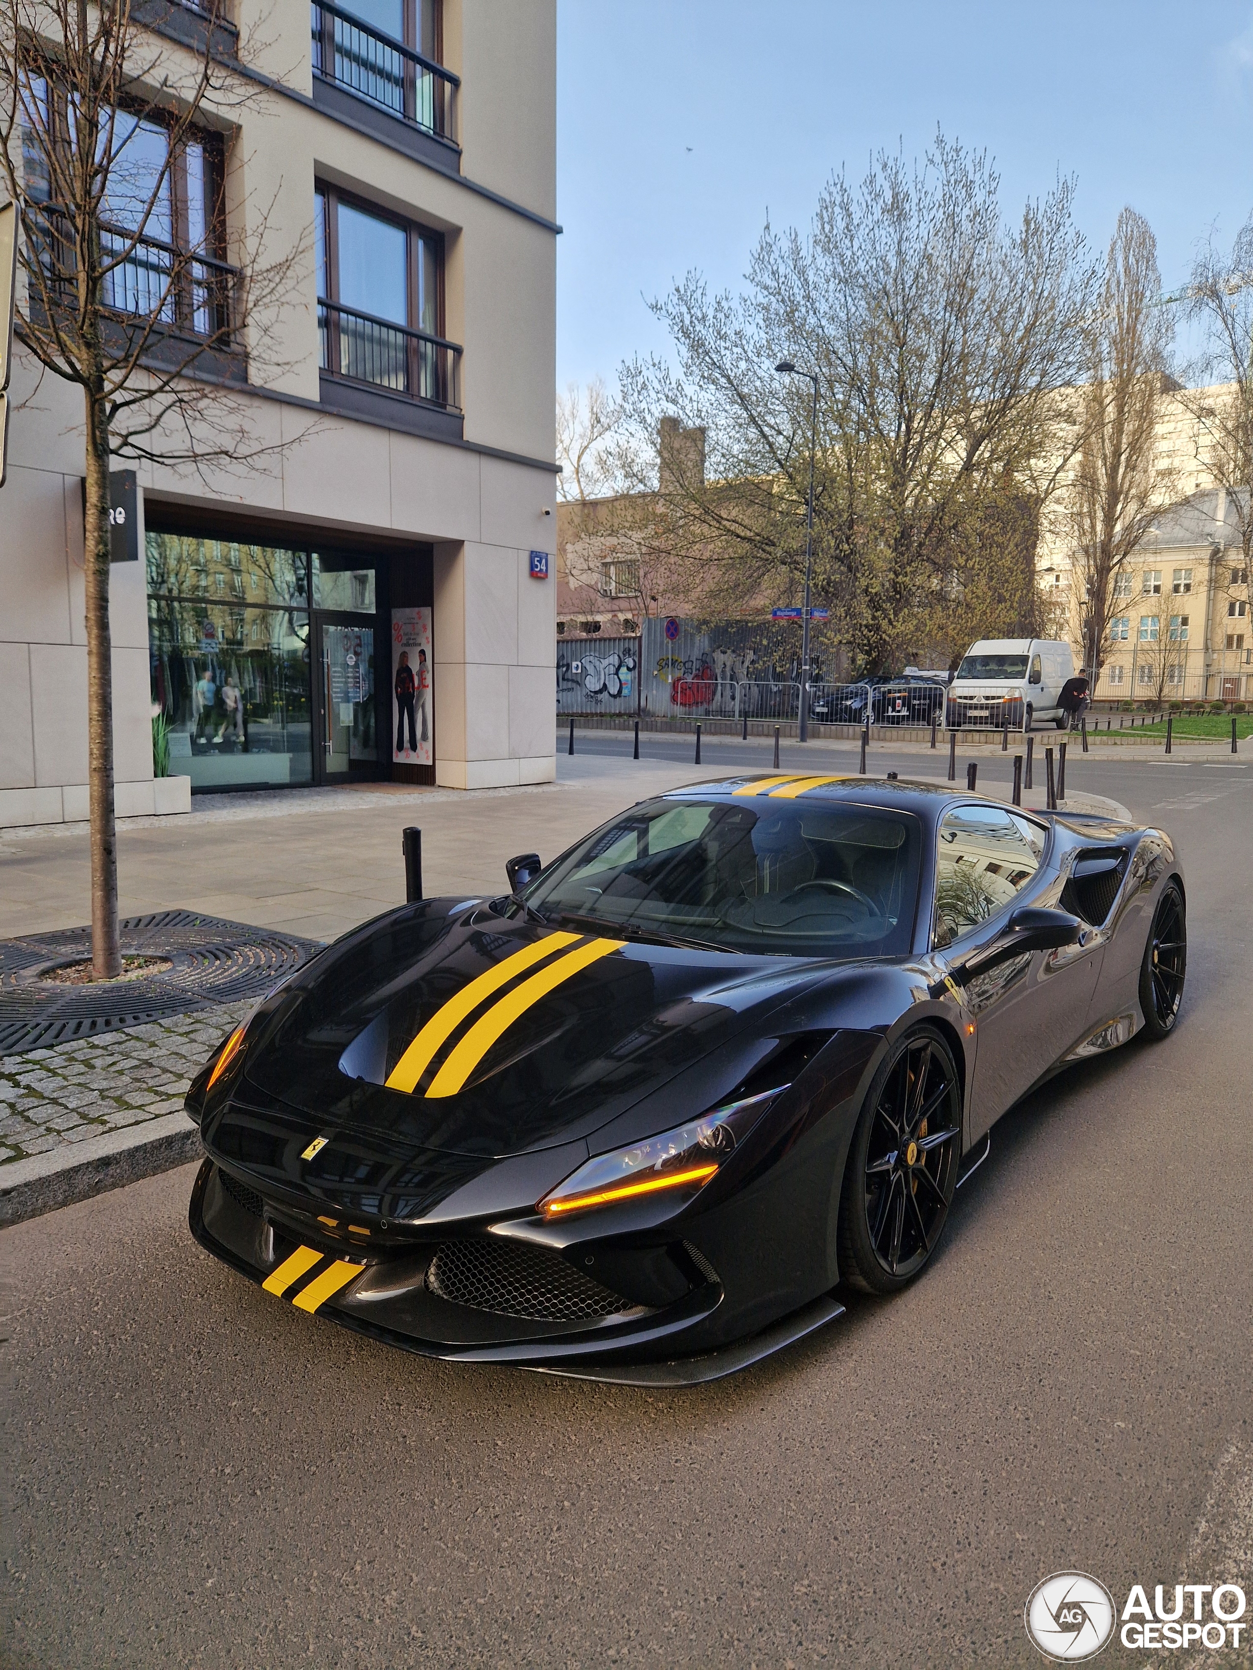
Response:
POLYGON ((446 1241, 431 1259, 426 1286, 453 1304, 538 1323, 595 1321, 632 1309, 560 1252, 511 1241, 446 1241))

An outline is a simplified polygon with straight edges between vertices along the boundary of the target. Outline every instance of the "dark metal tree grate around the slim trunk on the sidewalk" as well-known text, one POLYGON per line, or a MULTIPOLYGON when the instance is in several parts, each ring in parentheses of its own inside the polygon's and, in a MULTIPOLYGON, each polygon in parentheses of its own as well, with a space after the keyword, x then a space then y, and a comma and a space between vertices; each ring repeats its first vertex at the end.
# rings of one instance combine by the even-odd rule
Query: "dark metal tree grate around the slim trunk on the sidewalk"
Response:
POLYGON ((89 957, 90 929, 0 940, 0 1055, 185 1015, 212 1004, 259 1000, 321 950, 317 940, 221 922, 194 910, 129 917, 120 929, 124 957, 160 955, 169 959, 169 969, 109 985, 60 985, 40 975, 89 957))

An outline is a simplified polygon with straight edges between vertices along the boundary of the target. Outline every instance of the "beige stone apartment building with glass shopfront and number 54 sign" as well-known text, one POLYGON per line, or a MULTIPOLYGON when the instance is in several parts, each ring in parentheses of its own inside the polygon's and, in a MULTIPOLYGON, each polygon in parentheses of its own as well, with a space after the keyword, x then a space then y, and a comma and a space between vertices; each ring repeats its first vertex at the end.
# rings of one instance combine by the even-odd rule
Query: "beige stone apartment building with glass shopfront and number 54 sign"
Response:
MULTIPOLYGON (((555 0, 135 17, 234 89, 179 162, 165 237, 205 202, 222 227, 179 329, 209 329, 259 242, 289 281, 221 371, 249 461, 114 483, 137 526, 110 571, 119 813, 553 778, 555 0)), ((20 349, 10 397, 0 823, 25 825, 87 815, 84 434, 77 391, 20 349)))

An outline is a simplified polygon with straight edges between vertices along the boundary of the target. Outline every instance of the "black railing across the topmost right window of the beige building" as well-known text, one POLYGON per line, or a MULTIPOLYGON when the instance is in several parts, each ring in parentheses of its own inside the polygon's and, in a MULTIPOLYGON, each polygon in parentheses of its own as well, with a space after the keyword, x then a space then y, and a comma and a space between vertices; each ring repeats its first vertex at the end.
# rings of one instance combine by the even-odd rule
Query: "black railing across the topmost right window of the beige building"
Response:
POLYGON ((311 12, 316 75, 456 144, 454 105, 461 82, 451 70, 327 0, 312 0, 311 12))

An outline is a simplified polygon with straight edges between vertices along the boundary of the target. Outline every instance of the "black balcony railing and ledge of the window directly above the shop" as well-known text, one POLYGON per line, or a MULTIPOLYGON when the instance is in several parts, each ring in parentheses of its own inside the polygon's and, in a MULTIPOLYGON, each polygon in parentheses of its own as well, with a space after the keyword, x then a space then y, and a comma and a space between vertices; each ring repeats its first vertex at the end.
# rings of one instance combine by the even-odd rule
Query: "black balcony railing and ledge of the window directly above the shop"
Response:
POLYGON ((434 439, 461 436, 461 349, 456 342, 317 301, 322 406, 434 439), (404 416, 408 411, 408 416, 404 416))

